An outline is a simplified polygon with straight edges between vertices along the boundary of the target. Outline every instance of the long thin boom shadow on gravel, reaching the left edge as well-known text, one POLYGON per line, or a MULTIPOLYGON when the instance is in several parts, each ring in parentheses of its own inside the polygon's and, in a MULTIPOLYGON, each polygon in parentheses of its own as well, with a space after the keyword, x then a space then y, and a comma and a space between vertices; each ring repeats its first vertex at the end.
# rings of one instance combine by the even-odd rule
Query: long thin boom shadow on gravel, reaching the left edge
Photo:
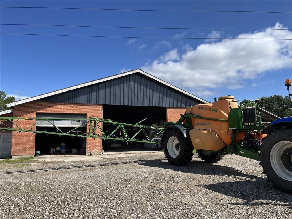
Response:
POLYGON ((13 174, 13 173, 32 173, 32 172, 43 172, 43 171, 52 171, 52 170, 66 170, 66 169, 76 169, 76 168, 88 168, 88 167, 96 167, 96 166, 112 166, 119 164, 134 164, 140 161, 126 161, 126 162, 110 162, 106 164, 89 164, 89 165, 80 165, 80 166, 60 166, 53 168, 43 168, 43 169, 35 169, 35 170, 23 170, 23 171, 11 171, 11 172, 0 172, 0 175, 3 174, 13 174))

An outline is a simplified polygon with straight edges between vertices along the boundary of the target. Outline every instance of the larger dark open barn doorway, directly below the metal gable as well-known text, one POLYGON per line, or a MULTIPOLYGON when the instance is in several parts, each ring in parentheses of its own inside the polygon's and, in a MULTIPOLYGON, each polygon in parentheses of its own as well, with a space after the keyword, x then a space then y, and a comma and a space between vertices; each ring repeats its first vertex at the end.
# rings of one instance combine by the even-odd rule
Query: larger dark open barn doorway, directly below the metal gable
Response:
MULTIPOLYGON (((136 124, 143 119, 142 125, 149 126, 162 126, 166 121, 166 107, 152 107, 152 106, 124 106, 124 105, 103 105, 103 119, 111 119, 116 122, 136 124)), ((110 134, 114 130, 114 126, 106 125, 103 123, 102 130, 105 134, 110 134)), ((125 126, 125 130, 129 136, 133 136, 137 129, 133 127, 125 126)), ((155 133, 148 132, 148 136, 155 133)), ((117 137, 119 131, 114 133, 117 137)), ((143 133, 138 134, 135 139, 141 140, 145 139, 143 133)), ((161 150, 161 145, 149 144, 149 143, 139 143, 139 142, 128 142, 120 140, 103 140, 102 147, 105 152, 117 152, 117 151, 152 151, 161 150)))

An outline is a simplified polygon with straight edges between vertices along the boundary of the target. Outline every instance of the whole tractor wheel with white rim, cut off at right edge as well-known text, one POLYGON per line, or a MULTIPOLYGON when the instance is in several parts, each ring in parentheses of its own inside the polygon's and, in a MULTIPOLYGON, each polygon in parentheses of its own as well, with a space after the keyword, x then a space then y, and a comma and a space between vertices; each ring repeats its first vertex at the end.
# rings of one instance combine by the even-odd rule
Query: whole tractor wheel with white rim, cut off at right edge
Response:
POLYGON ((260 147, 260 165, 275 188, 292 192, 292 128, 274 129, 260 147))

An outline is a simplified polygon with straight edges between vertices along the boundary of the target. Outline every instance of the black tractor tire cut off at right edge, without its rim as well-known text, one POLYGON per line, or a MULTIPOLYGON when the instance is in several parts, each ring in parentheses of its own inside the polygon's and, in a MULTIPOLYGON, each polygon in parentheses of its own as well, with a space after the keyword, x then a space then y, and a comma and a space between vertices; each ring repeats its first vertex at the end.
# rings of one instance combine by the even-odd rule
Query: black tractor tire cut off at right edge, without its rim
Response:
MULTIPOLYGON (((279 129, 274 129, 273 131, 268 133, 267 137, 263 139, 263 144, 260 146, 259 157, 261 158, 261 161, 259 164, 260 166, 263 167, 263 170, 264 170, 263 174, 267 175, 269 182, 271 181, 272 183, 274 183, 275 188, 279 188, 283 191, 292 193, 292 167, 291 167, 292 166, 292 161, 291 161, 292 147, 284 150, 281 155, 281 159, 279 159, 279 163, 283 165, 287 171, 291 172, 291 180, 285 180, 284 178, 280 177, 279 174, 274 170, 273 165, 271 163, 275 161, 271 161, 270 159, 271 150, 273 150, 272 152, 274 152, 275 149, 273 149, 273 147, 277 143, 281 144, 281 142, 286 142, 286 145, 290 145, 289 142, 292 142, 292 128, 283 127, 279 129)), ((292 146, 292 143, 291 143, 291 146, 292 146)), ((289 172, 287 173, 287 175, 289 178, 289 175, 290 175, 289 172)))

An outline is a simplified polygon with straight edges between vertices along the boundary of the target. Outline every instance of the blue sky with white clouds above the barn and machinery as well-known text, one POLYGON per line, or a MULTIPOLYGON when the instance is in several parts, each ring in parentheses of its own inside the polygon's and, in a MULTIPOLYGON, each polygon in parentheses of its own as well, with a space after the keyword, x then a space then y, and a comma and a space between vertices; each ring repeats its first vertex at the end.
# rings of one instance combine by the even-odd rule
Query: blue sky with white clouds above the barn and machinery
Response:
MULTIPOLYGON (((154 10, 292 11, 292 1, 1 1, 1 6, 154 10)), ((268 28, 178 30, 1 25, 1 33, 96 36, 288 38, 292 14, 1 8, 1 23, 128 27, 268 28)), ((287 95, 292 41, 123 39, 0 35, 0 90, 31 97, 141 68, 206 100, 287 95)))

